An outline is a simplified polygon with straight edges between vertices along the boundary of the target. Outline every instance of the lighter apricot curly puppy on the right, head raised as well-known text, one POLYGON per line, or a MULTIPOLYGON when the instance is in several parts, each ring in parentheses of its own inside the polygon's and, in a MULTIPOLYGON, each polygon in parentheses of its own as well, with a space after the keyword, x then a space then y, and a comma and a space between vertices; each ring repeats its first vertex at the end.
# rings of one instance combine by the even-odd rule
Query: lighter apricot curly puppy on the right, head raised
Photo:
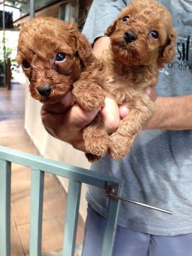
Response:
POLYGON ((111 48, 104 57, 106 93, 131 111, 110 135, 108 154, 120 159, 129 152, 142 125, 152 116, 154 103, 143 93, 156 86, 159 69, 175 56, 172 16, 155 0, 133 0, 106 31, 111 48))

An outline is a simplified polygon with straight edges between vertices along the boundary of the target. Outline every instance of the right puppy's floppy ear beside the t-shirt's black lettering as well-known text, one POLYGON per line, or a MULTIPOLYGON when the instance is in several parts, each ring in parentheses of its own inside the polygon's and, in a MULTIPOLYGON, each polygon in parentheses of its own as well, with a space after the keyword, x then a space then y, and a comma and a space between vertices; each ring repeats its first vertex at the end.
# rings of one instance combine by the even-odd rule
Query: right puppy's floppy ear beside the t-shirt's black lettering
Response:
POLYGON ((172 63, 174 57, 175 57, 175 40, 177 38, 176 29, 172 29, 168 40, 166 42, 165 47, 163 48, 163 51, 161 51, 161 54, 157 60, 157 63, 159 67, 163 67, 165 63, 172 63))

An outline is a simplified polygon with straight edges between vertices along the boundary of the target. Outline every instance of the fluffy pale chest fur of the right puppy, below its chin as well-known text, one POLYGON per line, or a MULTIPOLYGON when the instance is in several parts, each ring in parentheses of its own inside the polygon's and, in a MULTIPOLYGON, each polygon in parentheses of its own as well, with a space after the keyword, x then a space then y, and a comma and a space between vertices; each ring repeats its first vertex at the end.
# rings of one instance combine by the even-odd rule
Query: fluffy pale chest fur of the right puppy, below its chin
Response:
POLYGON ((145 88, 156 86, 157 77, 158 70, 154 67, 125 66, 109 56, 104 60, 103 89, 107 95, 113 95, 118 104, 134 104, 145 88))

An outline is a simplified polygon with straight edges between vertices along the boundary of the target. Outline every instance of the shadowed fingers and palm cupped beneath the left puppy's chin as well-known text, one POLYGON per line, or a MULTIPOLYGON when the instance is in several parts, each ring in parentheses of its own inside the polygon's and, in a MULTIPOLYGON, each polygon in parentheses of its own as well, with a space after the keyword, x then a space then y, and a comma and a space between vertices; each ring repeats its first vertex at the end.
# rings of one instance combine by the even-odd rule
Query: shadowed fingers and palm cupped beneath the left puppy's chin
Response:
POLYGON ((74 148, 85 151, 83 128, 90 124, 99 109, 85 111, 78 104, 43 105, 41 109, 42 123, 45 130, 55 138, 70 143, 74 148))

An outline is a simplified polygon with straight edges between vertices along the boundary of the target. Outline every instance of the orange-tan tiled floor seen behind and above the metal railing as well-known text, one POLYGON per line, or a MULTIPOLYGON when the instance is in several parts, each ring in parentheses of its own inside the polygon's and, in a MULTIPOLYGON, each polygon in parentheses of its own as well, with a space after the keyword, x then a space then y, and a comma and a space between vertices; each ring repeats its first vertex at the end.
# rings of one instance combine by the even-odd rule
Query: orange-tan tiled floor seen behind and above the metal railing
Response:
MULTIPOLYGON (((24 131, 23 84, 12 84, 12 90, 0 88, 0 145, 38 154, 24 131)), ((11 255, 29 255, 30 170, 12 166, 11 255)), ((58 179, 45 174, 42 252, 46 256, 62 255, 63 227, 67 195, 58 179)), ((84 223, 79 218, 77 244, 83 241, 84 223)), ((76 254, 80 255, 80 254, 76 254)))

